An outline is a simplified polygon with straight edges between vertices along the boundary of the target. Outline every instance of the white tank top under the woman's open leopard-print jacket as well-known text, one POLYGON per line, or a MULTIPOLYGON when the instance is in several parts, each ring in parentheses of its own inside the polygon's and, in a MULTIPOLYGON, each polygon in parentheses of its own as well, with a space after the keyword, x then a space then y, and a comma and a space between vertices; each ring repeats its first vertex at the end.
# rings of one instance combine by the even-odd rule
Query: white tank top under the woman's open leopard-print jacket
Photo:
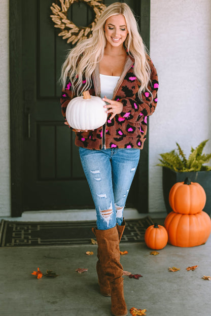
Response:
POLYGON ((120 77, 118 76, 107 76, 99 74, 100 78, 100 97, 107 96, 108 99, 112 99, 114 89, 120 77))

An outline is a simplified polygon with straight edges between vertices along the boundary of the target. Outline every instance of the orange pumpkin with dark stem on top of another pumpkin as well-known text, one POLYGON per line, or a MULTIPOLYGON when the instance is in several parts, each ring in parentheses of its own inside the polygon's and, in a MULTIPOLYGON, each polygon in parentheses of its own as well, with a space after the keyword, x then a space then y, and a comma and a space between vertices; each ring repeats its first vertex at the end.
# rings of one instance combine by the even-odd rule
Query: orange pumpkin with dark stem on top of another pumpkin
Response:
POLYGON ((169 193, 169 204, 174 212, 180 214, 196 214, 201 212, 206 203, 206 194, 197 182, 175 183, 169 193))

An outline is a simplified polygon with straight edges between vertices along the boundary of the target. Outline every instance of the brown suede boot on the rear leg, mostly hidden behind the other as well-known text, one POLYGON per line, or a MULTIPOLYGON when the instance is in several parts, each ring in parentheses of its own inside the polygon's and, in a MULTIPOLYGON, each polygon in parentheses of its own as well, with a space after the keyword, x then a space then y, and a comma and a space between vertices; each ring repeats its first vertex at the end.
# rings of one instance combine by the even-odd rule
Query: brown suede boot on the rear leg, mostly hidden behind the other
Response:
MULTIPOLYGON (((120 226, 117 224, 116 227, 117 227, 119 242, 120 242, 124 229, 125 229, 125 220, 123 219, 122 224, 120 226)), ((94 228, 92 229, 92 231, 95 234, 94 228)), ((102 270, 98 249, 97 249, 97 258, 98 258, 98 261, 96 264, 96 270, 97 270, 97 275, 98 275, 98 284, 100 288, 100 293, 104 296, 111 296, 110 282, 108 280, 107 275, 105 275, 104 271, 102 270)))

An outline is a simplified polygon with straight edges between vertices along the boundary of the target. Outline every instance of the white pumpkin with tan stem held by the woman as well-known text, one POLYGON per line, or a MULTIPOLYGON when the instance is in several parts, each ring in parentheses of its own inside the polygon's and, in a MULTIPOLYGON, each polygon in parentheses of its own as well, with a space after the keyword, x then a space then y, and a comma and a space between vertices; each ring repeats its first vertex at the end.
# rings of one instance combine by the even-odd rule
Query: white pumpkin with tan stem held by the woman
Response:
POLYGON ((102 126, 107 121, 106 104, 100 97, 91 96, 89 91, 84 96, 73 98, 66 108, 66 120, 74 129, 91 130, 102 126))

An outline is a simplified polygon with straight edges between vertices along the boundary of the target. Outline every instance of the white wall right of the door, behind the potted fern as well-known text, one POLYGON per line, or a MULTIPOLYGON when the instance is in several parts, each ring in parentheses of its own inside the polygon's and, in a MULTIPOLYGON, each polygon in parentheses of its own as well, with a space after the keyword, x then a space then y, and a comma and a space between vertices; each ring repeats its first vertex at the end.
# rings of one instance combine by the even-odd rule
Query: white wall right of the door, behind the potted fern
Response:
POLYGON ((150 118, 150 212, 165 210, 159 153, 178 142, 189 155, 204 139, 211 152, 211 1, 151 0, 151 58, 159 76, 150 118))

